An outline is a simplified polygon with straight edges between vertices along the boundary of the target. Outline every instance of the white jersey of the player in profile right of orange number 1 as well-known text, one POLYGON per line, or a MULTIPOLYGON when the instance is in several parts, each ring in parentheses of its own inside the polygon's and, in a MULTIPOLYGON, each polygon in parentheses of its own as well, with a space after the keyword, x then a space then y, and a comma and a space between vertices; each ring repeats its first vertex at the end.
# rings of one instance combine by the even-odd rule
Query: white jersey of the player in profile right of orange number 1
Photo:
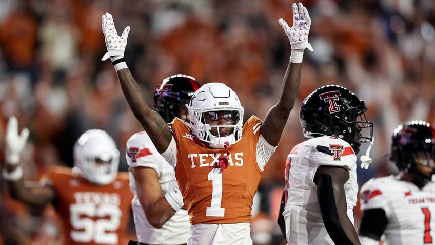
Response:
POLYGON ((346 141, 322 136, 296 145, 287 156, 287 203, 283 212, 288 244, 334 244, 326 231, 317 199, 314 175, 322 165, 341 166, 349 172, 344 185, 347 215, 353 223, 357 203, 357 156, 346 141))

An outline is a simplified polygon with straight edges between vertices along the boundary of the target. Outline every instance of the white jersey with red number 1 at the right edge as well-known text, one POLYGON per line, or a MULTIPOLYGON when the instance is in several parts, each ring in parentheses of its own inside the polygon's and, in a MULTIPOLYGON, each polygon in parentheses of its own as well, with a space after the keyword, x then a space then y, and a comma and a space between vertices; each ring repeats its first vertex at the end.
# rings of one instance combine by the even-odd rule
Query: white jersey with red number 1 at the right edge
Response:
POLYGON ((421 190, 400 176, 372 178, 360 191, 361 210, 383 209, 388 223, 384 244, 435 243, 435 184, 421 190))

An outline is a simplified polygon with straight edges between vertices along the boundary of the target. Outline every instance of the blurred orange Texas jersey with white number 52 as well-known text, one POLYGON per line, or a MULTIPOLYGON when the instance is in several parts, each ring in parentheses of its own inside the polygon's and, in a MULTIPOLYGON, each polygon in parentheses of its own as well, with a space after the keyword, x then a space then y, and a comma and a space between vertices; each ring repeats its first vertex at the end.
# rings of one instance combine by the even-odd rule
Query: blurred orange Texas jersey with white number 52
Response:
POLYGON ((62 222, 65 244, 123 244, 130 218, 128 173, 107 185, 93 184, 71 168, 53 166, 43 176, 54 187, 53 206, 62 222))

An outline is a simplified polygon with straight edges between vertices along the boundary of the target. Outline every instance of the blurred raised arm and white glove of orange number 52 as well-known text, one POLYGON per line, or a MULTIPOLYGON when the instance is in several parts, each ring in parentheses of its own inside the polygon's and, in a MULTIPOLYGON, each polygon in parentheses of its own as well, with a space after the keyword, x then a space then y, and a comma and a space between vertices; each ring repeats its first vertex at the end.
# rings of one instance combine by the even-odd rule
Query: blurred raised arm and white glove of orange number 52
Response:
POLYGON ((44 208, 55 199, 55 192, 51 186, 27 185, 23 179, 23 167, 19 165, 20 154, 26 145, 29 137, 29 130, 24 128, 18 135, 18 120, 15 117, 9 118, 6 129, 6 166, 2 175, 8 183, 8 191, 12 198, 26 204, 44 208))

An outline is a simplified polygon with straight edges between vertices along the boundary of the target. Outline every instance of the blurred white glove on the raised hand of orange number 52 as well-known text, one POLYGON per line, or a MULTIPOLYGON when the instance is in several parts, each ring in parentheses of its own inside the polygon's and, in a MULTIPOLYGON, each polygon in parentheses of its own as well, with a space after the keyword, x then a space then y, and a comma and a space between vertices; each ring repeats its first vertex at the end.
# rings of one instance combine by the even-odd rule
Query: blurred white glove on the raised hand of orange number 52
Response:
POLYGON ((19 163, 19 155, 23 151, 28 138, 29 129, 23 128, 21 134, 18 135, 18 120, 16 117, 10 117, 6 128, 5 156, 7 164, 16 165, 19 163))

